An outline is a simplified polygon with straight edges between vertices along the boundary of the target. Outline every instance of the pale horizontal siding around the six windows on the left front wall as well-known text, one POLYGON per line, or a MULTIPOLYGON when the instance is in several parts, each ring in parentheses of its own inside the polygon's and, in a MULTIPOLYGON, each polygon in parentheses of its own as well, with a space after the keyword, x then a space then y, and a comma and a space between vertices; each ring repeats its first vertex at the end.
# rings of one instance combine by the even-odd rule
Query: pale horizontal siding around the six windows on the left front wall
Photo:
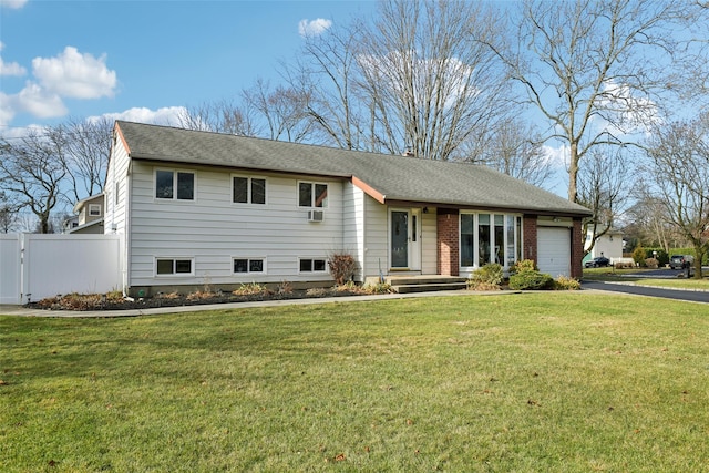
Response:
MULTIPOLYGON (((232 173, 133 162, 131 285, 202 285, 327 281, 330 274, 299 273, 299 258, 327 259, 343 248, 342 183, 327 182, 328 207, 321 223, 298 207, 297 177, 265 177, 266 205, 233 204, 232 173), (195 173, 195 200, 154 195, 154 169, 195 173), (193 276, 156 276, 155 258, 193 258, 193 276), (233 258, 264 258, 265 274, 234 274, 233 258)), ((315 182, 311 178, 302 181, 315 182)))

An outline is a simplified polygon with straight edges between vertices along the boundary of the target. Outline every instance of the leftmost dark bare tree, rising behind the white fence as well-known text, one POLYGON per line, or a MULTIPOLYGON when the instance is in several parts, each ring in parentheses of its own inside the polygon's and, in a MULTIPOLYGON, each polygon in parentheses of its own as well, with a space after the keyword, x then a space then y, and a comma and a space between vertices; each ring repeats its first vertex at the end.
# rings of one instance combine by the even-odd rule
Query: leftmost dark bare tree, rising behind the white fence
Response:
POLYGON ((22 138, 0 138, 0 183, 20 207, 39 219, 40 233, 50 233, 50 216, 62 198, 68 175, 65 135, 45 127, 22 138))

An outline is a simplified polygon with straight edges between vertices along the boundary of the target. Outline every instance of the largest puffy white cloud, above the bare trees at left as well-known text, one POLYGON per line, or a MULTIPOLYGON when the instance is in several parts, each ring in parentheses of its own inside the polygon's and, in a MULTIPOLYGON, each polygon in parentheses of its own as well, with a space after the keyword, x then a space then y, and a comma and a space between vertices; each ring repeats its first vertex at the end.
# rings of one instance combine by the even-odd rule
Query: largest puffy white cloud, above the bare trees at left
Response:
POLYGON ((41 86, 71 99, 113 96, 117 80, 105 64, 106 55, 94 58, 66 47, 56 58, 34 58, 32 71, 41 86))

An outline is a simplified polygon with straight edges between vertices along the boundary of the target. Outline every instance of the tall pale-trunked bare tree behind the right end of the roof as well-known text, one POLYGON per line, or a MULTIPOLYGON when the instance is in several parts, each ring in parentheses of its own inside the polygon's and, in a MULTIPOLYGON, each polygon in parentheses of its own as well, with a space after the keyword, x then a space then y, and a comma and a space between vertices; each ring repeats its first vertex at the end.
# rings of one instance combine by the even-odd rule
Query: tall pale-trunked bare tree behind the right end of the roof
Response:
POLYGON ((596 146, 635 143, 672 89, 678 31, 706 12, 681 0, 523 2, 516 43, 492 44, 546 119, 547 140, 567 145, 568 198, 578 199, 579 164, 596 146), (679 28, 677 28, 679 27, 679 28))

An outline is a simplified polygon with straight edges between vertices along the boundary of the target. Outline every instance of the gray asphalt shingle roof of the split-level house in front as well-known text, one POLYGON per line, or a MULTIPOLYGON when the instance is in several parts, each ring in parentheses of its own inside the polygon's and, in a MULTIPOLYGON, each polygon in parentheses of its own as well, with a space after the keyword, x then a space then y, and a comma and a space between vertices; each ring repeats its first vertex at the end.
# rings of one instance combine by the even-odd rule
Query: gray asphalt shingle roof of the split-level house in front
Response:
POLYGON ((117 122, 134 160, 338 178, 357 177, 387 202, 586 216, 556 194, 487 166, 117 122))

